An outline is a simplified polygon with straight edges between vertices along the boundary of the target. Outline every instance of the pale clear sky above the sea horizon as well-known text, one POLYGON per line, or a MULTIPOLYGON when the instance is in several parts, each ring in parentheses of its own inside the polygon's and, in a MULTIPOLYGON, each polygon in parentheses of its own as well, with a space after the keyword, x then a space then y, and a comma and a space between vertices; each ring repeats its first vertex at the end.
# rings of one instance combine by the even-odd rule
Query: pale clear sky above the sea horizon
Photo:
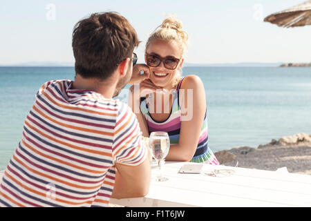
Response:
POLYGON ((120 12, 138 32, 142 41, 136 50, 139 62, 143 62, 148 35, 169 14, 178 17, 189 33, 188 63, 310 62, 311 26, 279 28, 261 20, 302 1, 1 0, 0 64, 73 63, 73 26, 103 11, 120 12))

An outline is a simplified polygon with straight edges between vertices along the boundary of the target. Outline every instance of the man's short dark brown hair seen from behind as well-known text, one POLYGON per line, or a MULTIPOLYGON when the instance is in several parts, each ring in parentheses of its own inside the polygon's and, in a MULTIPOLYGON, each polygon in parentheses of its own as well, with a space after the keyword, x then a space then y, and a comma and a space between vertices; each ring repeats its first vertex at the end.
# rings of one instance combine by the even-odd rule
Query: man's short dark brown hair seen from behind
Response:
POLYGON ((117 12, 94 13, 73 30, 75 73, 107 79, 126 57, 133 57, 139 43, 135 29, 117 12))

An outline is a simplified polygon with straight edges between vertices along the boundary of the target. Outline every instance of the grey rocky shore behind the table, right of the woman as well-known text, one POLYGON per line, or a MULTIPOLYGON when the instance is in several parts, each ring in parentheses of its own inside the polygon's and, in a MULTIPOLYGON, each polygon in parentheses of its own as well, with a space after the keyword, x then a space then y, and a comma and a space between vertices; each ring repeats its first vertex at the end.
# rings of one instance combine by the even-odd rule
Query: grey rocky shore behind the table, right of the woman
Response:
POLYGON ((299 133, 272 140, 257 148, 240 146, 214 153, 220 164, 276 171, 286 167, 290 173, 311 175, 311 135, 299 133))

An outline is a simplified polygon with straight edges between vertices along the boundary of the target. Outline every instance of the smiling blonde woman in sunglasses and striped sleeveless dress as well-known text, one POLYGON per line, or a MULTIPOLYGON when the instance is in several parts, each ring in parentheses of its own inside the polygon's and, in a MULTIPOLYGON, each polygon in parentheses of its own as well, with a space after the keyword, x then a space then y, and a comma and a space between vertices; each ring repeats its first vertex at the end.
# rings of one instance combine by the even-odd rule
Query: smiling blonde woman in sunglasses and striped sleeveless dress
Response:
POLYGON ((169 133, 166 160, 219 164, 208 145, 202 81, 196 75, 181 77, 187 44, 187 32, 172 16, 150 35, 144 55, 149 78, 131 86, 132 110, 144 137, 153 131, 169 133))

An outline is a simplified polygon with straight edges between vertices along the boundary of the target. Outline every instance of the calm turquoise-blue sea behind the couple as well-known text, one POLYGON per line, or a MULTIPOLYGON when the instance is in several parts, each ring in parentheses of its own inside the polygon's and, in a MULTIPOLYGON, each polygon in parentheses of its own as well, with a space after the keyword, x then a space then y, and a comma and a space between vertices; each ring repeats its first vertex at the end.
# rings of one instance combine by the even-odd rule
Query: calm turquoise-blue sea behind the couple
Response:
MULTIPOLYGON (((185 67, 205 86, 209 147, 257 147, 311 134, 311 68, 185 67)), ((42 84, 75 78, 73 67, 0 67, 0 170, 5 169, 42 84)), ((127 85, 117 99, 127 102, 127 85)))

